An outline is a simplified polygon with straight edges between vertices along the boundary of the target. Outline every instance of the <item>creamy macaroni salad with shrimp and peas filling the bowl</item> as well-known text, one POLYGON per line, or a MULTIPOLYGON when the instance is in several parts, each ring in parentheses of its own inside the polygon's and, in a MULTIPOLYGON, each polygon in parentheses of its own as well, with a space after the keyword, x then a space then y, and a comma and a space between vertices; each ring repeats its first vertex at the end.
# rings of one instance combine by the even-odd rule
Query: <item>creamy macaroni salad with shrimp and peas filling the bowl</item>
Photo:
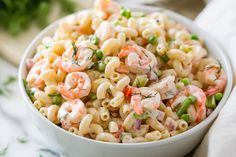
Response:
POLYGON ((217 107, 227 83, 184 25, 110 0, 62 19, 26 68, 26 92, 49 121, 115 143, 162 140, 194 127, 217 107))

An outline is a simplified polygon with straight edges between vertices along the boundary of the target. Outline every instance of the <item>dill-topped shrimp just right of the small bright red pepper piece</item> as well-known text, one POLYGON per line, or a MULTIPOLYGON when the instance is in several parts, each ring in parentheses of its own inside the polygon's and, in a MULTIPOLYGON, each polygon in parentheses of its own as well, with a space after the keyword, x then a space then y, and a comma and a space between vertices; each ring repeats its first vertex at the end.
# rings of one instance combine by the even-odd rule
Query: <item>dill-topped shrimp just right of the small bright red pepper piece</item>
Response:
POLYGON ((153 88, 135 88, 135 95, 131 96, 131 105, 136 114, 143 114, 144 110, 155 110, 161 104, 160 94, 153 88))

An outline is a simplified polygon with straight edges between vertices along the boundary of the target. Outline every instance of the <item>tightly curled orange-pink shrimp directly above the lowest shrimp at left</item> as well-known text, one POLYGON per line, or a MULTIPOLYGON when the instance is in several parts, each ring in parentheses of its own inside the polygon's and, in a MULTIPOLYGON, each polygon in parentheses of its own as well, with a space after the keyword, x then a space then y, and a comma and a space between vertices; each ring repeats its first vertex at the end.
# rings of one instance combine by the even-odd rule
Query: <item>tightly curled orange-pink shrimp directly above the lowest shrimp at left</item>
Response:
POLYGON ((72 72, 66 76, 64 84, 58 84, 58 90, 67 100, 82 98, 89 94, 91 80, 84 72, 72 72))

